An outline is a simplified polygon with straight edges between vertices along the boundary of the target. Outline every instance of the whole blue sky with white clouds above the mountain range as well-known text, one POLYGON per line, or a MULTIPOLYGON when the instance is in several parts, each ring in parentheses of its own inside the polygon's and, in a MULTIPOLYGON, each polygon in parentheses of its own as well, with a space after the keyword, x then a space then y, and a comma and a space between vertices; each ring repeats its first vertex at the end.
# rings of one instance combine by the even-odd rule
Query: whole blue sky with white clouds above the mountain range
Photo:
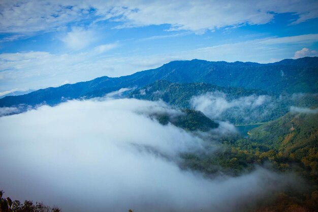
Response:
POLYGON ((171 60, 318 55, 316 0, 2 0, 0 16, 0 96, 171 60))

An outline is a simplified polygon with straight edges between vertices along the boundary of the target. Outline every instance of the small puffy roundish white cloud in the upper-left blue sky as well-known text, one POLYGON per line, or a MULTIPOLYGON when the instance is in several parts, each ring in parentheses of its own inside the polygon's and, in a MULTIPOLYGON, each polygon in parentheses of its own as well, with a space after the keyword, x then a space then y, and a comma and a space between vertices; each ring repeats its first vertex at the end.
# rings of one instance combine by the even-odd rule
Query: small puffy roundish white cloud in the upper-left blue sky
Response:
POLYGON ((96 40, 96 36, 96 33, 91 30, 86 30, 81 27, 73 27, 72 31, 67 33, 61 41, 63 41, 71 49, 80 50, 94 42, 94 40, 96 40))

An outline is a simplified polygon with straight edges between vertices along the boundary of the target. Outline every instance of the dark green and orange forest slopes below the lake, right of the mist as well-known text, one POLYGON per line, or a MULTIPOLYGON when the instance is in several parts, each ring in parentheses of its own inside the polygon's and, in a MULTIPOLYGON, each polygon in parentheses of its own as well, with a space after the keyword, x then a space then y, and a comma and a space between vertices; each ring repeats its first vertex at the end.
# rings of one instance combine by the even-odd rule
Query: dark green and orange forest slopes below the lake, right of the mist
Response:
POLYGON ((317 211, 318 208, 318 114, 287 113, 252 129, 248 138, 239 135, 219 140, 222 148, 207 154, 183 154, 181 167, 207 176, 233 176, 251 171, 255 165, 279 172, 297 173, 310 189, 275 194, 275 201, 260 206, 261 211, 317 211))

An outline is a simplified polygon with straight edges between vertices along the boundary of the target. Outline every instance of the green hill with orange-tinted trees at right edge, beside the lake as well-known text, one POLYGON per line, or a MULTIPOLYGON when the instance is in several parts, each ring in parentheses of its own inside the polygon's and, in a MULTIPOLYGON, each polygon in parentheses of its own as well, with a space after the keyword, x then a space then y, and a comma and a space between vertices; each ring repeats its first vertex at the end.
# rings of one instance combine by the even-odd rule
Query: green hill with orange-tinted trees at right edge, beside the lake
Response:
POLYGON ((301 164, 318 184, 318 113, 289 112, 249 134, 251 140, 274 149, 280 163, 301 164))

